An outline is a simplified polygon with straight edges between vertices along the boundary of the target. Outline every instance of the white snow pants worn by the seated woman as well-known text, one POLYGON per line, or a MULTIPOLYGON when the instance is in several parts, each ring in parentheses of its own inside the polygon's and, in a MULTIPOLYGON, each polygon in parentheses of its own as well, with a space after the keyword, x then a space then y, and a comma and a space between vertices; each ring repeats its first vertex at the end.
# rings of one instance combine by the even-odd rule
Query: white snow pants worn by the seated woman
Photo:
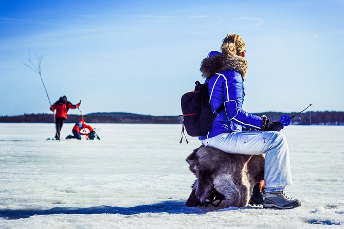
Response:
POLYGON ((205 146, 229 154, 260 155, 265 153, 265 187, 293 184, 286 138, 278 131, 237 131, 221 133, 202 140, 205 146))

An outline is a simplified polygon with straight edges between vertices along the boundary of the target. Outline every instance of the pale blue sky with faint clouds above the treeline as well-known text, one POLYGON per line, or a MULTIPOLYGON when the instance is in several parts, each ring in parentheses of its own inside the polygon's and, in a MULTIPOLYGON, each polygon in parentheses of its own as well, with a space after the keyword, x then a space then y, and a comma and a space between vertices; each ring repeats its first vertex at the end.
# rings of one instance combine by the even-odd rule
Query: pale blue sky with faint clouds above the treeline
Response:
POLYGON ((49 112, 29 49, 51 102, 180 114, 228 32, 246 43, 246 111, 344 110, 344 1, 0 0, 0 115, 49 112))

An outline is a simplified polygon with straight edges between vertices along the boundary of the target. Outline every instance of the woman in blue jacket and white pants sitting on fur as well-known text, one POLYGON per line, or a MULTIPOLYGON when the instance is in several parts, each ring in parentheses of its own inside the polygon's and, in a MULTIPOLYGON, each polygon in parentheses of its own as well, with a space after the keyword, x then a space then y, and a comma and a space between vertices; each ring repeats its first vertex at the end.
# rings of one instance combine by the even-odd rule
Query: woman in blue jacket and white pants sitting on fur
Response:
POLYGON ((289 151, 285 136, 279 131, 283 125, 266 116, 256 116, 242 109, 247 72, 245 43, 237 34, 223 40, 221 51, 212 51, 201 64, 203 77, 208 81, 211 109, 222 104, 224 109, 215 118, 211 130, 200 136, 204 146, 212 146, 229 154, 265 154, 265 208, 288 209, 301 205, 299 200, 284 194, 292 184, 289 151), (250 128, 255 131, 242 131, 250 128))

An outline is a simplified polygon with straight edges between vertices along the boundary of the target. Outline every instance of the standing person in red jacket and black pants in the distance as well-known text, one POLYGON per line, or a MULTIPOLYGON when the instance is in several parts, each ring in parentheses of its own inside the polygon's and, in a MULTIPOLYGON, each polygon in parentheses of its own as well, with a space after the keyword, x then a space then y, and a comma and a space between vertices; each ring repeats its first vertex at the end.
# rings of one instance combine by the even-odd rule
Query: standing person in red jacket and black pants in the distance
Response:
POLYGON ((56 135, 55 139, 60 140, 60 131, 64 121, 67 119, 67 112, 69 109, 76 109, 80 106, 81 100, 78 104, 73 105, 67 101, 67 97, 60 97, 58 101, 50 106, 50 110, 55 113, 56 135))

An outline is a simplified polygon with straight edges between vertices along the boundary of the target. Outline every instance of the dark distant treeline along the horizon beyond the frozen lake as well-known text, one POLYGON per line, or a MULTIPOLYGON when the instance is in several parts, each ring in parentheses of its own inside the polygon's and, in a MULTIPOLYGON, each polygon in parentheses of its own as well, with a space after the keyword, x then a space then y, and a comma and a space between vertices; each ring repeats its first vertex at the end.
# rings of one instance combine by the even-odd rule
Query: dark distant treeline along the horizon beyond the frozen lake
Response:
MULTIPOLYGON (((281 116, 293 113, 264 112, 256 113, 258 116, 265 114, 269 119, 279 120, 281 116)), ((76 123, 80 121, 80 116, 69 114, 66 123, 76 123)), ((182 123, 182 118, 178 116, 149 116, 144 114, 125 113, 125 112, 101 112, 89 113, 84 115, 88 123, 161 123, 176 124, 182 123)), ((23 114, 20 116, 0 116, 0 122, 15 123, 51 123, 53 115, 47 113, 23 114)), ((308 111, 301 113, 292 120, 294 125, 344 125, 344 111, 308 111)))

